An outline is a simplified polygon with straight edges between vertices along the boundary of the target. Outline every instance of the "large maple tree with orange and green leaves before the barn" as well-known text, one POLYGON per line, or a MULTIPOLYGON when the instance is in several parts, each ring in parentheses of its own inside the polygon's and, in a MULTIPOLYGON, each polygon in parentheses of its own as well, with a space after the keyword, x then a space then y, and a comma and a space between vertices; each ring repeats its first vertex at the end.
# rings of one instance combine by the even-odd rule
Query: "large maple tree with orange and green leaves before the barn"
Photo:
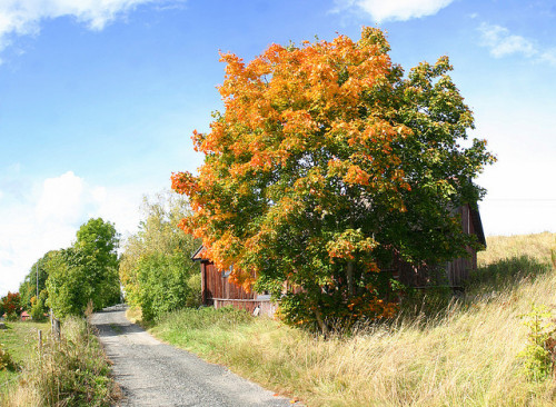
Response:
POLYGON ((222 54, 225 111, 192 136, 205 162, 172 175, 192 208, 181 227, 237 284, 281 298, 289 322, 391 316, 394 256, 440 262, 477 245, 453 209, 476 205, 494 158, 468 140, 448 58, 404 77, 389 50, 364 28, 249 63, 222 54))

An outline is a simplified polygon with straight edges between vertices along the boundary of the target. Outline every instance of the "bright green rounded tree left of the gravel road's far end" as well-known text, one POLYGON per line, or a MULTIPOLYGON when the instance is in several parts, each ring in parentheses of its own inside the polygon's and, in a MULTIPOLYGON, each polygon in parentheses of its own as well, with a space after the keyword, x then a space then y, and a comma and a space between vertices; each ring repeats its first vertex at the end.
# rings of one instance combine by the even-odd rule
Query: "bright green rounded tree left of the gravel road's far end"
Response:
POLYGON ((89 301, 96 310, 119 302, 118 242, 113 224, 90 219, 79 228, 72 247, 51 254, 47 289, 54 315, 82 314, 89 301))

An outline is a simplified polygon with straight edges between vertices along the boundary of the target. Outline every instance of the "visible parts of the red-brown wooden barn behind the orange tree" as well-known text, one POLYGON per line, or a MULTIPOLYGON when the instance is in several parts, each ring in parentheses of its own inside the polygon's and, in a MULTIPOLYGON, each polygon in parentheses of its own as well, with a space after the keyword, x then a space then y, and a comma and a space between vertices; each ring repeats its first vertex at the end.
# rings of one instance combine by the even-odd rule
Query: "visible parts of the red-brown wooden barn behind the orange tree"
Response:
MULTIPOLYGON (((479 212, 469 205, 457 209, 461 216, 461 228, 466 234, 474 234, 480 244, 486 247, 485 234, 479 212)), ((274 315, 276 304, 270 301, 270 295, 247 292, 241 287, 230 282, 229 270, 219 270, 210 260, 202 258, 205 247, 199 247, 192 255, 193 261, 199 261, 201 267, 201 296, 202 304, 221 308, 232 306, 246 309, 255 315, 274 315)), ((463 282, 469 277, 469 270, 477 268, 477 252, 467 248, 469 258, 454 259, 445 265, 416 267, 411 264, 394 260, 389 269, 394 277, 403 284, 413 287, 449 286, 454 289, 461 288, 463 282)))

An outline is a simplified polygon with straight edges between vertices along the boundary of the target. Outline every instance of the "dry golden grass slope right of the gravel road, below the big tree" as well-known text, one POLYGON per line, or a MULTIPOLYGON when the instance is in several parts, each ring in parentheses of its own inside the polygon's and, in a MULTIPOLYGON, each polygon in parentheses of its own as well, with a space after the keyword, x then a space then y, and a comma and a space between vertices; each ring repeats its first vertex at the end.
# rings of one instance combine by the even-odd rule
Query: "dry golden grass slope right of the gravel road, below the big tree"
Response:
POLYGON ((151 331, 308 406, 554 406, 556 380, 527 380, 517 357, 522 316, 556 305, 556 235, 540 235, 488 238, 496 255, 481 255, 464 297, 424 295, 418 312, 351 336, 325 340, 234 309, 185 309, 151 331))

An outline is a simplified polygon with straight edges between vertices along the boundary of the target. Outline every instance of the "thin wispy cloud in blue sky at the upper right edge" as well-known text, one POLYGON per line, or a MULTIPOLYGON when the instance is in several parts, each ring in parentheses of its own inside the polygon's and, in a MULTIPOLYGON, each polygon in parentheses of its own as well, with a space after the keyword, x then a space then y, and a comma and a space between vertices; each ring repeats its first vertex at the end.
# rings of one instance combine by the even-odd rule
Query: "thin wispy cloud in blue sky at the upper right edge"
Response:
POLYGON ((520 54, 556 67, 556 49, 543 49, 536 42, 517 34, 507 28, 483 22, 478 28, 481 44, 487 47, 495 58, 520 54))

